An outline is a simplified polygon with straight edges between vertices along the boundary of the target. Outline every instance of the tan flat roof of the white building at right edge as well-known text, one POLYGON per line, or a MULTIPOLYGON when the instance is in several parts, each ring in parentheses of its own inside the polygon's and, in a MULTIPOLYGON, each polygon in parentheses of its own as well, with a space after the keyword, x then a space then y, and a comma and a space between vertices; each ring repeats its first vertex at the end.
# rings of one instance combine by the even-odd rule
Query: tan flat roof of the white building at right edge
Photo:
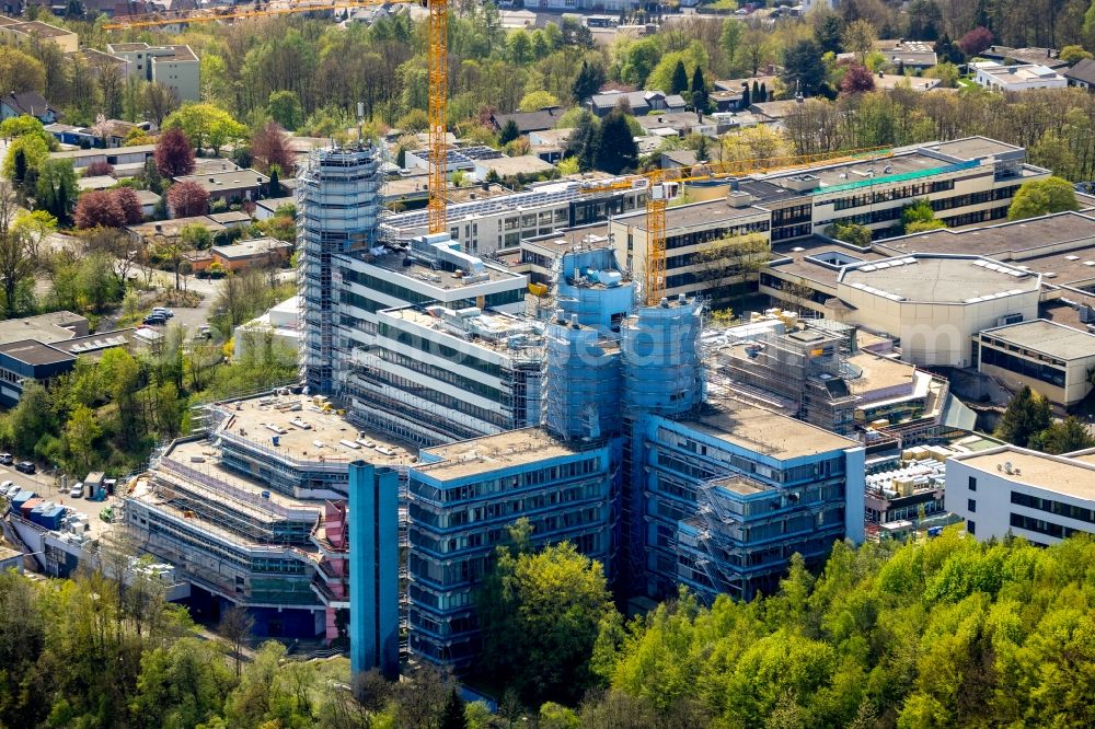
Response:
POLYGON ((1014 445, 957 455, 955 460, 1015 484, 1079 499, 1095 499, 1095 463, 1085 460, 1049 455, 1014 445), (1004 470, 1005 463, 1012 464, 1012 473, 1004 470), (996 466, 1000 466, 999 471, 996 466), (1018 473, 1015 473, 1016 468, 1018 473))

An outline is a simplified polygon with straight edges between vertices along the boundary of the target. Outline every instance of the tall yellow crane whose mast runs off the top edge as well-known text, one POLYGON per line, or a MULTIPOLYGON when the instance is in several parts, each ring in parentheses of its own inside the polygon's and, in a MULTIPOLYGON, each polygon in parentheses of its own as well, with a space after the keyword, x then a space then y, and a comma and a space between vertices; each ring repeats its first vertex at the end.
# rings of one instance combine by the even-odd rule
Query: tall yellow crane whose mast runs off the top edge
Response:
MULTIPOLYGON (((256 2, 251 8, 221 8, 217 10, 180 10, 165 13, 124 15, 106 23, 107 31, 175 25, 180 23, 211 23, 322 11, 347 10, 382 5, 390 0, 333 0, 328 2, 300 1, 270 8, 256 2)), ((443 233, 446 225, 446 172, 448 144, 446 125, 449 112, 449 2, 424 0, 429 11, 427 39, 429 66, 429 232, 443 233)))

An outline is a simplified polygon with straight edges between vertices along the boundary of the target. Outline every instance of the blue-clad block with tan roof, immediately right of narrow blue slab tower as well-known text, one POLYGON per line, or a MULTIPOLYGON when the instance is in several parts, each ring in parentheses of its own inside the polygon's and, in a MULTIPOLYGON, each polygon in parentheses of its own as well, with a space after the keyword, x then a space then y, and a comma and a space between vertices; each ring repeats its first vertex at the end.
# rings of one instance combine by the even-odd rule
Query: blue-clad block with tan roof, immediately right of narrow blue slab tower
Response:
POLYGON ((619 459, 540 428, 424 449, 411 467, 411 650, 456 670, 480 649, 474 592, 520 518, 532 544, 569 541, 606 568, 619 459))

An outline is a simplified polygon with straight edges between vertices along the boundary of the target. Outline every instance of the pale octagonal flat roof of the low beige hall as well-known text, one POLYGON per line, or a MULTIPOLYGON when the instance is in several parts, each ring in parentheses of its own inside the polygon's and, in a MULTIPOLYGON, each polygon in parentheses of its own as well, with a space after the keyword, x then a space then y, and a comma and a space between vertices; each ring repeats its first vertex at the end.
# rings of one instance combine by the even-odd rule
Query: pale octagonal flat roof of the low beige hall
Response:
POLYGON ((973 304, 1039 289, 1039 277, 971 256, 915 255, 845 268, 841 286, 894 301, 973 304))

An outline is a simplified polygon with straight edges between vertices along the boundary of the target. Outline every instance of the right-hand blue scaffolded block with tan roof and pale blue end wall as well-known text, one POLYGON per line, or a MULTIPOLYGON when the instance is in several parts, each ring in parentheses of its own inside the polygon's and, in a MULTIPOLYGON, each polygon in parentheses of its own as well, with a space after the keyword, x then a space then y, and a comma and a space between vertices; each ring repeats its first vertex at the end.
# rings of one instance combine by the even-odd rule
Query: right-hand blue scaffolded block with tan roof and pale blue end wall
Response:
POLYGON ((795 553, 820 565, 863 540, 864 449, 771 410, 726 401, 644 428, 646 593, 772 594, 795 553))

